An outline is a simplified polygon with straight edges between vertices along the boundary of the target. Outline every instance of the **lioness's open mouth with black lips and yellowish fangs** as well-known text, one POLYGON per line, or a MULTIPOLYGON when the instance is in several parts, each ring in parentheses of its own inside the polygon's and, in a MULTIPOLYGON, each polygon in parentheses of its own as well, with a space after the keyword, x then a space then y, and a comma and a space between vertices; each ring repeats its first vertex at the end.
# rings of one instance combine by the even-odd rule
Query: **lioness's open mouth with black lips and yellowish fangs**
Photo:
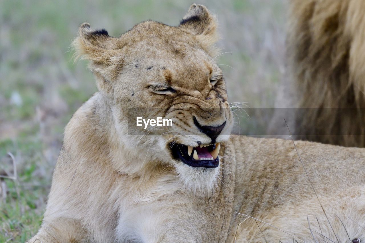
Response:
POLYGON ((201 144, 197 147, 171 143, 170 149, 176 159, 192 167, 215 168, 219 165, 220 143, 201 144))

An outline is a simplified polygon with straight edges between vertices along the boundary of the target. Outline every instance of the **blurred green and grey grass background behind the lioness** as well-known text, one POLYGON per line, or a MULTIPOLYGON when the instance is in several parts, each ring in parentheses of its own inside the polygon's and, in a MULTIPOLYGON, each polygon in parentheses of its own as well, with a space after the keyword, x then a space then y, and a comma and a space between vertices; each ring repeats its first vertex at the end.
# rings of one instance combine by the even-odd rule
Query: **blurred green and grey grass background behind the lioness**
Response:
MULTIPOLYGON (((196 3, 218 16, 218 63, 230 102, 273 108, 284 74, 285 0, 196 3)), ((70 60, 78 25, 87 21, 114 36, 147 19, 175 26, 190 4, 0 0, 0 174, 14 175, 11 155, 17 165, 16 180, 0 181, 0 242, 24 242, 37 232, 64 127, 96 92, 87 63, 70 60)))

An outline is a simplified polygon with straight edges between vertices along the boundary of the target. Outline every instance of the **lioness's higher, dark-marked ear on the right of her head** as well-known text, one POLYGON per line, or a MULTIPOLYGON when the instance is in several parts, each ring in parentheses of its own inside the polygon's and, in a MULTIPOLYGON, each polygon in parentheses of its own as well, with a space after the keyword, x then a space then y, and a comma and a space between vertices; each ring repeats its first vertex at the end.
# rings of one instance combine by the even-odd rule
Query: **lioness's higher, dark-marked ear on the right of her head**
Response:
POLYGON ((212 52, 215 43, 219 39, 216 32, 217 19, 215 15, 200 4, 192 4, 190 6, 178 28, 196 36, 208 53, 212 52))

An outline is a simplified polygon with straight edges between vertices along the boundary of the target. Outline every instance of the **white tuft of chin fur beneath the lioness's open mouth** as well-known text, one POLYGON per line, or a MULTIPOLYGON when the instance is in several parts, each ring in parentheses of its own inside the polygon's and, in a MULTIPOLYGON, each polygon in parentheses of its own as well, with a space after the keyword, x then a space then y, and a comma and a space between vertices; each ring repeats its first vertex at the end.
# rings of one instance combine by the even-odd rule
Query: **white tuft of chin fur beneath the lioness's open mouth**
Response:
POLYGON ((194 193, 211 193, 217 186, 220 165, 216 168, 191 167, 181 161, 175 164, 184 188, 194 193))

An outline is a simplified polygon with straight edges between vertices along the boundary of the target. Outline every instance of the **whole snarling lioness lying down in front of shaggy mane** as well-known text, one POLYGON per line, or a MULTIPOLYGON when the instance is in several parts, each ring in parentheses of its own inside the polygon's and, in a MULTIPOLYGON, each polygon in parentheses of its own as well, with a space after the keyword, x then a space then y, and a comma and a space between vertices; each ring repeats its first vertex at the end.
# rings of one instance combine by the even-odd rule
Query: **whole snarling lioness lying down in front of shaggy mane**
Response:
POLYGON ((216 39, 215 17, 196 4, 177 27, 147 21, 119 38, 81 24, 74 46, 99 92, 66 127, 28 242, 365 239, 365 150, 230 137, 216 39), (136 116, 173 126, 129 126, 136 116))

